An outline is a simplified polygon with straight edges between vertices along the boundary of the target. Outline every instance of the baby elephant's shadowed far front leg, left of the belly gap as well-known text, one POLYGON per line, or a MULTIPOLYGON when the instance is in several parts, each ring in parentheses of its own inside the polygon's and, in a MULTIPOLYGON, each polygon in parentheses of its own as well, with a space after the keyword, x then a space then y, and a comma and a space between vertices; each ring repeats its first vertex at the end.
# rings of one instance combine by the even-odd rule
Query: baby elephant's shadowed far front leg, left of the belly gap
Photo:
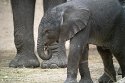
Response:
POLYGON ((89 46, 87 45, 80 58, 79 72, 81 75, 81 80, 79 83, 93 83, 88 67, 88 50, 89 46))

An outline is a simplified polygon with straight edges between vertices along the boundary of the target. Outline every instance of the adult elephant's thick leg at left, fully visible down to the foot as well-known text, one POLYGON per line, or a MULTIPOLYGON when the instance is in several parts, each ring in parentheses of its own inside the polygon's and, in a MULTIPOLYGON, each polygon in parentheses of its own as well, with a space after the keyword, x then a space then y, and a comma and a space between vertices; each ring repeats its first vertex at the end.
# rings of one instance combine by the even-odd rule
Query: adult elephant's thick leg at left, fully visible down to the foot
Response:
POLYGON ((38 67, 34 53, 33 22, 35 0, 11 0, 14 19, 14 42, 17 49, 9 67, 38 67))

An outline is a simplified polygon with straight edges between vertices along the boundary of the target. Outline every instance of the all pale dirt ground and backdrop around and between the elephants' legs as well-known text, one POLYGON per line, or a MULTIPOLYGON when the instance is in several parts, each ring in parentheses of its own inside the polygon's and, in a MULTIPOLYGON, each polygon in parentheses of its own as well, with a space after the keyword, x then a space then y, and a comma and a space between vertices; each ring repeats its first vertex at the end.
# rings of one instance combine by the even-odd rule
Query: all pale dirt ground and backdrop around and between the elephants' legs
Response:
MULTIPOLYGON (((37 38, 37 27, 43 15, 42 1, 36 2, 36 13, 34 21, 35 41, 37 38)), ((63 83, 66 79, 66 68, 64 69, 28 69, 9 68, 9 62, 16 54, 13 38, 13 19, 9 0, 0 0, 0 83, 63 83)), ((66 45, 66 47, 68 47, 66 45)), ((67 49, 68 52, 68 49, 67 49)), ((40 60, 41 61, 41 60, 40 60)), ((119 65, 114 58, 116 71, 119 65)), ((91 48, 89 52, 89 67, 94 83, 103 74, 103 64, 96 49, 91 48)), ((119 80, 121 77, 117 75, 119 80)), ((78 75, 78 80, 80 76, 78 75)))

